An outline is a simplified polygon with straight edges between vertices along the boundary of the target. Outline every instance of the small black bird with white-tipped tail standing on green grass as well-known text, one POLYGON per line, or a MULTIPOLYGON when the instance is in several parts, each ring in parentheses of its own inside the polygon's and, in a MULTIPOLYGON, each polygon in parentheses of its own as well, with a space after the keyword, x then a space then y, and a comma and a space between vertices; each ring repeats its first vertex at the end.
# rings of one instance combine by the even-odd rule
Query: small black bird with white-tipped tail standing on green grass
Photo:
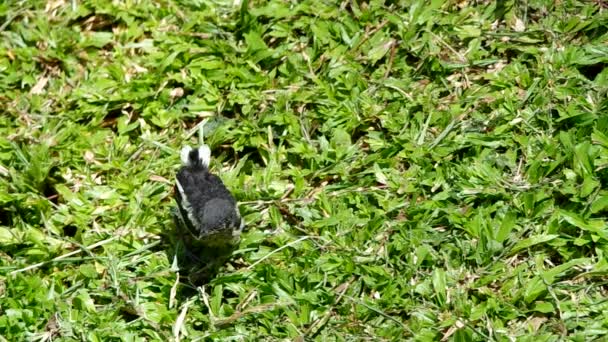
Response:
POLYGON ((222 180, 209 171, 209 146, 186 146, 181 159, 175 193, 186 247, 201 260, 222 256, 235 247, 244 227, 236 201, 222 180))

